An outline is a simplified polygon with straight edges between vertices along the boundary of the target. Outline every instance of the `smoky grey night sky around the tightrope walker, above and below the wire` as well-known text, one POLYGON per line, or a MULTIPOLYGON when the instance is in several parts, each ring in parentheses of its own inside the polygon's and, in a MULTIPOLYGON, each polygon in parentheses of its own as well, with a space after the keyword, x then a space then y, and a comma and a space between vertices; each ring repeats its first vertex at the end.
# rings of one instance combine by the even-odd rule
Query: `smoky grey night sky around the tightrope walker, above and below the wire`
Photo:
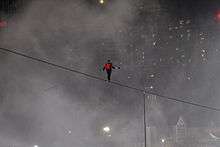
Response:
MULTIPOLYGON (((13 3, 0 5, 0 47, 103 78, 111 59, 121 67, 113 81, 220 108, 217 0, 13 3)), ((141 146, 142 93, 5 52, 0 68, 0 146, 141 146)), ((220 113, 199 107, 160 97, 147 106, 162 136, 180 116, 189 127, 220 125, 220 113)))

